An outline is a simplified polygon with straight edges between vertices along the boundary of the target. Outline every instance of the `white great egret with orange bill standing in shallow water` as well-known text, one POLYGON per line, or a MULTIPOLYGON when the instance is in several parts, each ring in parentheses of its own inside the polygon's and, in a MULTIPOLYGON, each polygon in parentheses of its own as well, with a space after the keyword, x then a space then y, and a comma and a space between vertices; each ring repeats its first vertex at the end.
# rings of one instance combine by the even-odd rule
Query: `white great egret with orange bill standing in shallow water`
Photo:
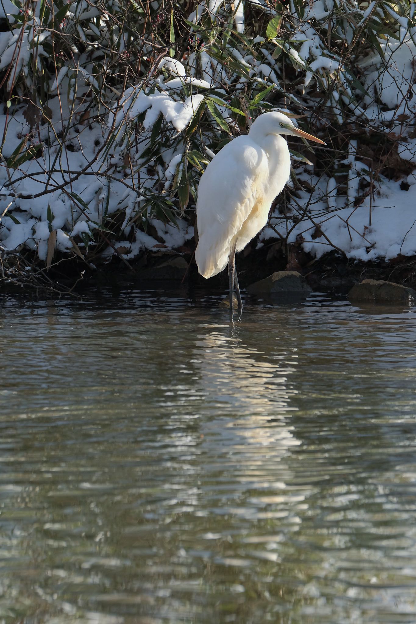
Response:
POLYGON ((266 112, 254 121, 247 135, 236 137, 216 154, 198 186, 196 264, 208 279, 228 263, 231 311, 234 283, 238 309, 242 308, 236 251, 244 249, 266 225, 271 202, 289 179, 291 159, 282 134, 325 145, 321 139, 296 128, 283 113, 266 112))

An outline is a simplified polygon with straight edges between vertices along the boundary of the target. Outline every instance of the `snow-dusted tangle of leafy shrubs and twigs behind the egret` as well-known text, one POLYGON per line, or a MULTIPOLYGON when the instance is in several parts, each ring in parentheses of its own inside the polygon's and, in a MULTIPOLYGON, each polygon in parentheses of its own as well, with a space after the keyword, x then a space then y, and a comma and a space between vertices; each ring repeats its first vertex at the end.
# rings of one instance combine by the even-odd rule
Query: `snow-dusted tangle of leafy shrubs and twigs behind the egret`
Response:
POLYGON ((335 219, 342 251, 377 255, 377 189, 416 162, 413 3, 2 1, 3 255, 182 245, 206 163, 276 107, 327 148, 296 147, 263 238, 320 255, 335 219))

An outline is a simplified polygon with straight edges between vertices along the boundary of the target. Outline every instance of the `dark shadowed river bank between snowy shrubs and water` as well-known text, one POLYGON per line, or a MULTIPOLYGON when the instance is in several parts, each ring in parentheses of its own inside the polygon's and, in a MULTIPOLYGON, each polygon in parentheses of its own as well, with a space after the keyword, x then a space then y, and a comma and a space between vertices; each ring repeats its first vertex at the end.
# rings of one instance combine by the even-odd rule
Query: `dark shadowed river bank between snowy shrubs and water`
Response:
MULTIPOLYGON (((82 295, 102 286, 135 285, 143 290, 177 290, 198 288, 207 293, 226 292, 226 271, 205 280, 199 275, 194 259, 195 240, 179 249, 143 250, 136 258, 126 261, 113 255, 94 263, 80 258, 57 258, 49 270, 33 256, 11 255, 2 258, 0 289, 27 292, 55 291, 82 295)), ((241 288, 253 284, 276 271, 294 270, 304 276, 313 291, 346 295, 362 280, 387 280, 416 288, 416 256, 398 256, 394 260, 351 260, 338 251, 320 258, 302 250, 301 245, 282 245, 281 241, 265 241, 256 248, 251 243, 236 260, 241 288)))

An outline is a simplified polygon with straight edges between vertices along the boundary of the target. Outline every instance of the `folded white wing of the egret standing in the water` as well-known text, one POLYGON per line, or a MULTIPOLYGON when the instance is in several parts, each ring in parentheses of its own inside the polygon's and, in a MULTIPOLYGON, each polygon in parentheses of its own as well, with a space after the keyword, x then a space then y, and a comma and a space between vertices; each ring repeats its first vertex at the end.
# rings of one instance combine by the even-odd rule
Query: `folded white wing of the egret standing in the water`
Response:
POLYGON ((233 237, 249 217, 268 179, 263 150, 249 137, 225 145, 206 167, 198 187, 198 270, 208 278, 225 268, 233 237))

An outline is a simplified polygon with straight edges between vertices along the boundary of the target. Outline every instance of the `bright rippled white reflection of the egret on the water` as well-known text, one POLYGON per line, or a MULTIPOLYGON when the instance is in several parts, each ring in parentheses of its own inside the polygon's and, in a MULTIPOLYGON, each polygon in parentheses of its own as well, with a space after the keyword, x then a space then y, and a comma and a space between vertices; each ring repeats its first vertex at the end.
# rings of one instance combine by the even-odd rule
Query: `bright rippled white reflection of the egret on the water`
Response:
POLYGON ((273 454, 282 456, 289 447, 299 445, 290 424, 290 413, 296 409, 290 404, 296 394, 290 381, 296 349, 280 349, 271 359, 269 354, 243 343, 238 324, 203 328, 206 333, 196 338, 194 365, 208 409, 215 407, 218 412, 206 427, 218 427, 217 434, 225 443, 234 440, 238 446, 269 446, 273 454), (224 424, 224 417, 231 420, 224 424))

